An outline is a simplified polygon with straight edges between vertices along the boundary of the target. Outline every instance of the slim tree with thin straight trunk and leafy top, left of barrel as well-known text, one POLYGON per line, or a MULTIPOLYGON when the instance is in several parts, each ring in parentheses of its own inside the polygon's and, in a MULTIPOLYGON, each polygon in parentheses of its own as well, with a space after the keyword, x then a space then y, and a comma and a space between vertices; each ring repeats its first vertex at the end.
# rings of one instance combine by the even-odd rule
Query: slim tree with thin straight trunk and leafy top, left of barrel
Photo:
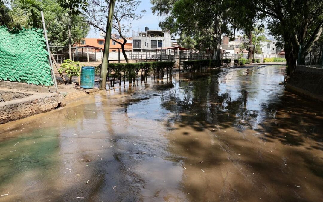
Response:
POLYGON ((67 12, 68 16, 68 52, 69 59, 72 59, 72 48, 71 48, 71 27, 72 27, 72 16, 78 16, 82 14, 81 10, 87 10, 86 0, 58 0, 60 6, 67 12))

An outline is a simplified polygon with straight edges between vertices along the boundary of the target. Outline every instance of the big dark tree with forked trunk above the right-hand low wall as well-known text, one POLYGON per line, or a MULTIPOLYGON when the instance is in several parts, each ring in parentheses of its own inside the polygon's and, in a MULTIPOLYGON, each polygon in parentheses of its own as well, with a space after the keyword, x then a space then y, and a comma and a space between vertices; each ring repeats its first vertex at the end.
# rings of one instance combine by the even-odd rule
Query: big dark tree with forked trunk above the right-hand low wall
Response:
POLYGON ((284 45, 285 58, 291 73, 295 70, 298 55, 298 63, 304 64, 308 50, 318 41, 323 31, 323 1, 243 1, 266 14, 270 34, 284 45))

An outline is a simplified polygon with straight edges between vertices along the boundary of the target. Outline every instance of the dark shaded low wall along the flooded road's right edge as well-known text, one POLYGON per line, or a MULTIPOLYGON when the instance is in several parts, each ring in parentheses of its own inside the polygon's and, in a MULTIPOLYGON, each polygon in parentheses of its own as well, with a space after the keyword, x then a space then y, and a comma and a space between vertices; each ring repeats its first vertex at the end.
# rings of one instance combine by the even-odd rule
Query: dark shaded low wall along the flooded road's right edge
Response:
POLYGON ((323 69, 297 66, 287 84, 287 89, 323 101, 323 69))

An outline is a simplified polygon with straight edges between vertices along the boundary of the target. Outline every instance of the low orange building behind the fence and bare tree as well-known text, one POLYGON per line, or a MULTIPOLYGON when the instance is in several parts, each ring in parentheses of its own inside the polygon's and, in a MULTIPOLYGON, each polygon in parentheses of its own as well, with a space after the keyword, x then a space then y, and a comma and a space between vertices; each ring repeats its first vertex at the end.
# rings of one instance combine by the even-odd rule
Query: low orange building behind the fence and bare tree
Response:
MULTIPOLYGON (((124 48, 125 49, 132 49, 132 38, 127 38, 127 43, 125 44, 124 48)), ((89 47, 91 48, 89 50, 89 52, 94 52, 92 48, 97 48, 96 52, 101 52, 101 50, 103 51, 104 48, 104 38, 84 38, 81 40, 81 43, 78 44, 78 47, 89 47), (102 49, 99 49, 102 48, 102 49)), ((118 41, 120 41, 121 43, 123 42, 123 39, 117 39, 118 41)), ((109 52, 118 52, 118 48, 120 48, 120 52, 121 52, 121 45, 118 44, 117 42, 113 41, 112 39, 110 39, 110 49, 109 52)))

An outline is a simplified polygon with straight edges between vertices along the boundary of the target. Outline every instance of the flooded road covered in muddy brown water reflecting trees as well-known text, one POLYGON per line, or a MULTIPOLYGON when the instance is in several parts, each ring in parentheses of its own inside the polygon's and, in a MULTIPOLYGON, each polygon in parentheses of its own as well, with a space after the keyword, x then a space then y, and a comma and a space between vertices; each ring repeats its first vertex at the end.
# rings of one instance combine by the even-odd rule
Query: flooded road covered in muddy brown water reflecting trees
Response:
POLYGON ((138 80, 0 125, 0 201, 321 201, 323 106, 284 69, 138 80))

